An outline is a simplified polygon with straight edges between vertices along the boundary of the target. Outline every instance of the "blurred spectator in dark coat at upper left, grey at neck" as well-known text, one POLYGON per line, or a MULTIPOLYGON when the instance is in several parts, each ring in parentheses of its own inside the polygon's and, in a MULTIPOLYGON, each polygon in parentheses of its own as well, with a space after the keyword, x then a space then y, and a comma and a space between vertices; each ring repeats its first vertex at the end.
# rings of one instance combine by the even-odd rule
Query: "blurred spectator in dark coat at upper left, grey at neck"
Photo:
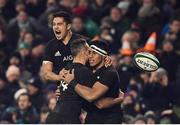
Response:
POLYGON ((36 19, 28 16, 26 11, 21 10, 8 24, 7 38, 12 50, 14 50, 14 45, 17 45, 22 31, 46 35, 44 28, 37 23, 36 19))

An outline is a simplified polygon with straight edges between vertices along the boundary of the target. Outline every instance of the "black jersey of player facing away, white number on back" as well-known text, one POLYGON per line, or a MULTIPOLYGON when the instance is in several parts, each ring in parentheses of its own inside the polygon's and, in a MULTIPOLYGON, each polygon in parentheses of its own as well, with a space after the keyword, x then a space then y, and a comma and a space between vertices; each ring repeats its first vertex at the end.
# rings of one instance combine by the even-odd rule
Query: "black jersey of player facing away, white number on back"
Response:
MULTIPOLYGON (((75 80, 88 87, 92 87, 96 81, 96 77, 85 65, 80 63, 69 63, 66 69, 74 69, 75 80)), ((78 123, 81 108, 84 99, 80 97, 74 88, 63 81, 60 84, 61 96, 58 100, 59 115, 63 118, 59 123, 69 124, 78 123)), ((80 123, 80 121, 79 121, 80 123)))

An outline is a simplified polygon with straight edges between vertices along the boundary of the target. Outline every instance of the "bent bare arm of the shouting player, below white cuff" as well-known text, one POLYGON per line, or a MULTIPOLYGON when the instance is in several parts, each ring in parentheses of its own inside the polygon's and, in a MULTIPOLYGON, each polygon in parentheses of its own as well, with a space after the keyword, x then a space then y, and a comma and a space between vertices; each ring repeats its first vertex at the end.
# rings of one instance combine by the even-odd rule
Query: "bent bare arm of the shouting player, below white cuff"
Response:
POLYGON ((59 81, 60 76, 53 73, 53 63, 50 61, 43 61, 42 64, 42 71, 43 71, 43 77, 45 80, 50 81, 59 81))

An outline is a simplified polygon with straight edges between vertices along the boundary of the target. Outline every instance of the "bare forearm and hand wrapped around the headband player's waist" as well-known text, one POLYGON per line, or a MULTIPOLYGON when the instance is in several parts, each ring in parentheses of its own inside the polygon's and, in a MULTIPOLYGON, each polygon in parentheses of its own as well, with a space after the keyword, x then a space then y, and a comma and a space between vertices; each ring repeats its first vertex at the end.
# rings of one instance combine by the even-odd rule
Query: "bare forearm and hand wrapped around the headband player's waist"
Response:
POLYGON ((119 92, 119 96, 117 98, 102 98, 95 102, 96 107, 99 109, 109 108, 113 105, 121 104, 124 99, 124 93, 122 91, 119 92))

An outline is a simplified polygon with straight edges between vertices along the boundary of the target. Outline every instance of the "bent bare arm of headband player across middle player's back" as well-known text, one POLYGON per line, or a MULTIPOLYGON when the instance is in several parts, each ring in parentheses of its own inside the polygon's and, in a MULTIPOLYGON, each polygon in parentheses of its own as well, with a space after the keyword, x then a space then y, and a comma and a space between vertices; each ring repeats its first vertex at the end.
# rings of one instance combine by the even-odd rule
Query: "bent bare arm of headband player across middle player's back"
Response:
POLYGON ((93 102, 96 99, 100 98, 108 91, 108 87, 101 84, 100 82, 96 82, 92 88, 77 84, 75 86, 75 91, 88 102, 93 102))

